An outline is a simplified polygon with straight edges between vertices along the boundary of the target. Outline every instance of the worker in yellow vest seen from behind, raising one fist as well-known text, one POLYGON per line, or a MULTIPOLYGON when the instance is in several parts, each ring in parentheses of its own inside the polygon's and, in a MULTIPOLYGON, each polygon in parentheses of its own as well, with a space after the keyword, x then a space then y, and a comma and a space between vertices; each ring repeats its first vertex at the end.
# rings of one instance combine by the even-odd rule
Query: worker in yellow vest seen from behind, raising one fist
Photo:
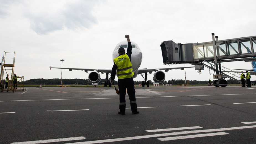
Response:
POLYGON ((135 98, 135 89, 134 89, 134 81, 132 76, 134 75, 132 70, 132 63, 131 63, 131 55, 132 55, 132 44, 130 41, 130 36, 125 35, 128 42, 127 53, 123 47, 118 49, 118 54, 116 58, 114 58, 114 65, 112 67, 110 83, 114 84, 114 79, 118 77, 118 87, 119 87, 119 112, 118 114, 125 114, 126 109, 126 89, 127 94, 130 100, 130 106, 132 109, 132 114, 139 114, 137 111, 137 103, 135 98))

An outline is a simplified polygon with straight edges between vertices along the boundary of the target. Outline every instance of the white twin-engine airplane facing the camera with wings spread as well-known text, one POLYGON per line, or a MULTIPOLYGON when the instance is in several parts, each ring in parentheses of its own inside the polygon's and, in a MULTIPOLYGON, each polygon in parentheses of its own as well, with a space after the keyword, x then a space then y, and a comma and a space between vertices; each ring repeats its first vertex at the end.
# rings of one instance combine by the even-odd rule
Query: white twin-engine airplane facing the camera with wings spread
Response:
MULTIPOLYGON (((142 87, 144 87, 145 85, 149 87, 149 81, 147 81, 147 73, 151 74, 152 72, 155 72, 153 74, 153 80, 156 83, 161 83, 165 80, 165 73, 162 70, 165 70, 165 72, 167 72, 173 69, 184 70, 184 68, 194 68, 194 66, 188 66, 188 67, 176 67, 176 68, 139 69, 142 61, 142 52, 139 46, 137 45, 137 43, 131 41, 131 44, 132 44, 131 63, 132 63, 132 70, 134 72, 133 78, 136 78, 138 74, 140 74, 143 78, 144 78, 143 75, 145 75, 144 81, 142 81, 142 87)), ((118 49, 120 47, 123 47, 124 50, 127 52, 127 40, 124 40, 116 45, 112 54, 112 60, 117 56, 119 56, 118 49)), ((57 67, 50 66, 50 70, 51 68, 57 68, 57 67)), ((86 73, 88 73, 88 71, 92 71, 91 73, 89 73, 89 81, 91 83, 98 83, 101 80, 100 73, 101 74, 106 73, 107 81, 104 82, 104 87, 107 87, 107 85, 111 87, 109 75, 111 74, 112 69, 89 69, 89 68, 58 68, 58 69, 68 69, 69 71, 82 70, 82 71, 85 71, 86 73)))

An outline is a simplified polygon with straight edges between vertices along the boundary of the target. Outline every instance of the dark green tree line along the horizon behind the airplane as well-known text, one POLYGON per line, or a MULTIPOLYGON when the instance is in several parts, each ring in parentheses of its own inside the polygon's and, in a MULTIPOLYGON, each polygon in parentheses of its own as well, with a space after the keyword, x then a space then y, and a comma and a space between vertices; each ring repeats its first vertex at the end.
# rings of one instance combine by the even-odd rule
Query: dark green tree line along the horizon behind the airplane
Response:
MULTIPOLYGON (((60 84, 61 79, 59 78, 53 78, 53 79, 43 79, 43 78, 37 78, 37 79, 29 79, 24 81, 24 84, 60 84)), ((102 84, 104 84, 104 81, 106 79, 101 79, 102 84)), ((117 83, 117 81, 115 81, 117 83)), ((149 84, 153 84, 155 82, 152 82, 149 80, 149 84)), ((160 84, 186 84, 185 80, 182 79, 171 79, 168 81, 163 81, 160 84)), ((213 81, 212 81, 213 83, 213 81)), ((239 84, 236 81, 229 79, 227 80, 228 84, 239 84)), ((92 83, 89 81, 89 79, 62 79, 62 84, 82 84, 82 85, 91 85, 92 83)), ((101 83, 100 83, 101 84, 101 83)), ((142 81, 134 81, 134 84, 142 84, 142 81)), ((188 81, 188 84, 208 84, 208 81, 188 81)))

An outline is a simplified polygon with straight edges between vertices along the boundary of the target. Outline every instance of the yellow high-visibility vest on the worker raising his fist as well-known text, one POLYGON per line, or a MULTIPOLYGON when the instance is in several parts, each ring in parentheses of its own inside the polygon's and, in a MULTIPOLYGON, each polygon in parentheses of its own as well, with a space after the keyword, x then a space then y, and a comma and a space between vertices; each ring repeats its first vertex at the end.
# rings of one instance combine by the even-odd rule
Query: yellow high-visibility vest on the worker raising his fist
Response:
POLYGON ((114 63, 117 66, 116 71, 118 79, 131 78, 134 75, 132 63, 127 54, 114 58, 114 63))

